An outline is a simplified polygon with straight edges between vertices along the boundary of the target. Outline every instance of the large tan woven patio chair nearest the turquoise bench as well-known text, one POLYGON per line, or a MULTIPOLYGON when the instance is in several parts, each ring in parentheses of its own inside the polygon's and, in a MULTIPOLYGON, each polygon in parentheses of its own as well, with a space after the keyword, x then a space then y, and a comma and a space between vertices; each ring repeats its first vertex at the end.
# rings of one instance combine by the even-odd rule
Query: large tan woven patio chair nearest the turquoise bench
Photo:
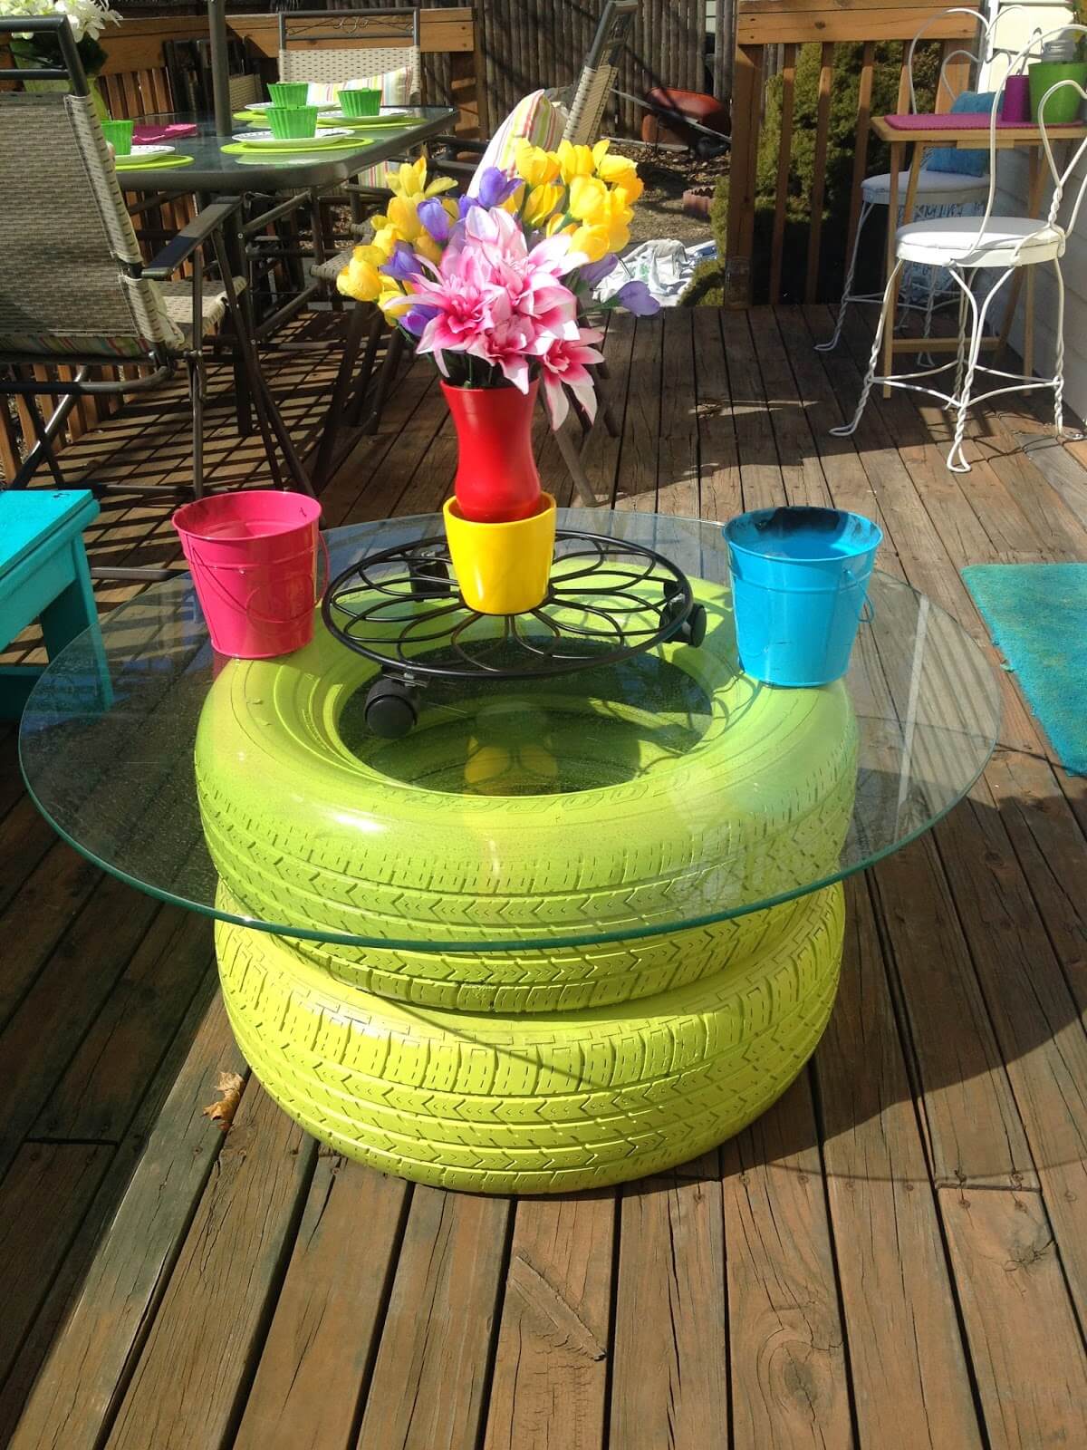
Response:
MULTIPOLYGON (((13 30, 52 35, 64 64, 0 70, 0 81, 67 81, 68 91, 0 91, 0 188, 7 197, 0 210, 6 283, 0 291, 0 396, 25 400, 36 435, 9 487, 25 486, 42 464, 58 486, 68 486, 52 445, 80 397, 145 393, 184 365, 193 410, 191 490, 203 493, 207 344, 229 318, 230 334, 222 342, 248 384, 275 484, 284 483, 278 444, 290 481, 309 489, 261 374, 239 297, 243 284, 228 258, 225 225, 235 222, 241 199, 213 200, 145 264, 67 19, 0 20, 0 36, 13 30), (220 274, 210 284, 207 249, 220 274), (186 264, 191 278, 171 281, 186 264), (36 376, 42 367, 64 367, 74 376, 42 380, 36 376), (141 376, 132 377, 133 368, 141 376), (100 371, 113 376, 91 378, 100 371), (46 422, 38 399, 49 394, 59 403, 46 422)), ((94 487, 100 492, 109 484, 94 487)), ((184 489, 119 487, 164 494, 184 489)))

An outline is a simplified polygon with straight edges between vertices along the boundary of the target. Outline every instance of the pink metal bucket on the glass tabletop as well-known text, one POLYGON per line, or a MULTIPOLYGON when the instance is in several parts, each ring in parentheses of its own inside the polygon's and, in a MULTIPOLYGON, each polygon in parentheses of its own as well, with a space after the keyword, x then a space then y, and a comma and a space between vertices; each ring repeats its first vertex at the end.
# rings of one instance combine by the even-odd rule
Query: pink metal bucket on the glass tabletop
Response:
POLYGON ((174 513, 212 645, 270 660, 313 638, 320 505, 304 493, 246 489, 174 513))

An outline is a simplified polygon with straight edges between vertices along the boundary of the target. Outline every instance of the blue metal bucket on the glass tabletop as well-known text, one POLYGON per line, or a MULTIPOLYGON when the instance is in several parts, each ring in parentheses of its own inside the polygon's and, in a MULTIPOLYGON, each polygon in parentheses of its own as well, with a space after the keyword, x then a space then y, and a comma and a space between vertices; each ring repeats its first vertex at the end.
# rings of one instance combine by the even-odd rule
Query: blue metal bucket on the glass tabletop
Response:
POLYGON ((757 509, 723 534, 745 673, 767 684, 839 680, 883 531, 841 509, 757 509))

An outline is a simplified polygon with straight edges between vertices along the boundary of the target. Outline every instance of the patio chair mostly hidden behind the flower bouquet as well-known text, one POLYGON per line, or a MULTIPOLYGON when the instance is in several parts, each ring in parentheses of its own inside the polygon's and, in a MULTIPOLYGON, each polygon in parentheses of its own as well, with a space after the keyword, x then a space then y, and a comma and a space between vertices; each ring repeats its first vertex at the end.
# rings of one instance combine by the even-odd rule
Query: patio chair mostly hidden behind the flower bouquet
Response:
MULTIPOLYGON (((607 110, 607 97, 615 87, 622 49, 628 44, 630 29, 633 26, 635 12, 638 10, 639 3, 641 0, 607 0, 604 4, 593 44, 586 55, 586 62, 581 67, 575 86, 568 91, 570 103, 567 107, 567 119, 562 128, 562 135, 557 139, 568 141, 571 145, 591 145, 599 138, 604 112, 607 110)), ((468 181, 467 190, 471 190, 471 177, 474 177, 478 170, 490 164, 488 152, 491 157, 497 154, 501 158, 504 149, 501 145, 501 129, 503 128, 496 132, 496 136, 491 138, 490 142, 465 142, 457 136, 438 138, 439 145, 445 144, 446 146, 455 149, 475 151, 480 157, 474 165, 467 164, 461 168, 468 181)), ((506 157, 507 164, 512 161, 515 141, 516 138, 509 138, 509 157, 506 157)), ((454 170, 457 165, 457 162, 443 161, 441 162, 441 170, 454 170)), ((352 248, 348 246, 345 251, 332 257, 328 262, 315 267, 315 276, 335 287, 336 277, 339 277, 341 271, 343 271, 351 261, 351 252, 352 248)), ((374 377, 375 360, 383 331, 384 320, 372 303, 354 304, 351 320, 348 323, 348 335, 343 344, 343 355, 341 358, 339 373, 333 387, 333 405, 329 409, 329 415, 325 422, 325 432, 317 450, 317 461, 315 464, 315 478, 317 480, 317 484, 320 484, 328 474, 335 450, 335 435, 339 420, 346 413, 351 420, 362 422, 361 415, 368 402, 367 394, 370 383, 374 377), (355 378, 355 367, 359 362, 359 355, 362 358, 362 365, 358 377, 355 378), (352 397, 354 403, 351 402, 352 397)), ((365 426, 371 431, 375 429, 380 422, 381 409, 384 407, 387 396, 391 390, 393 380, 396 378, 396 373, 400 367, 406 348, 407 342, 403 332, 400 332, 399 328, 393 328, 390 331, 383 365, 378 370, 377 393, 365 418, 365 426)), ((607 368, 604 364, 600 364, 594 371, 597 377, 607 380, 607 368)), ((612 436, 616 436, 619 426, 612 412, 612 406, 603 396, 603 392, 597 392, 601 403, 599 416, 603 418, 612 436)), ((584 502, 591 503, 593 492, 580 464, 581 452, 588 441, 591 426, 588 419, 586 419, 577 407, 574 407, 572 412, 581 419, 583 431, 580 442, 575 442, 575 439, 572 439, 570 434, 565 434, 562 429, 559 429, 557 442, 578 493, 583 496, 584 502)))

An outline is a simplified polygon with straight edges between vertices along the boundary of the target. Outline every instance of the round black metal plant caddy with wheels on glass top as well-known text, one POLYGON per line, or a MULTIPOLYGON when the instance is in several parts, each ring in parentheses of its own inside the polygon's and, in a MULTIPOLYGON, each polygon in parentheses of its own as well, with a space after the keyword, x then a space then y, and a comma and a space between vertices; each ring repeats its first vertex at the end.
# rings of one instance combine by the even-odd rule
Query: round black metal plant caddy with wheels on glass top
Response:
POLYGON ((367 695, 368 728, 387 740, 409 734, 419 692, 433 682, 546 679, 616 664, 670 639, 697 648, 706 637, 706 610, 687 576, 655 550, 558 529, 555 554, 561 571, 552 571, 542 603, 520 615, 483 615, 464 602, 442 535, 365 554, 330 580, 325 625, 381 667, 367 695), (571 624, 557 612, 587 621, 571 624))

